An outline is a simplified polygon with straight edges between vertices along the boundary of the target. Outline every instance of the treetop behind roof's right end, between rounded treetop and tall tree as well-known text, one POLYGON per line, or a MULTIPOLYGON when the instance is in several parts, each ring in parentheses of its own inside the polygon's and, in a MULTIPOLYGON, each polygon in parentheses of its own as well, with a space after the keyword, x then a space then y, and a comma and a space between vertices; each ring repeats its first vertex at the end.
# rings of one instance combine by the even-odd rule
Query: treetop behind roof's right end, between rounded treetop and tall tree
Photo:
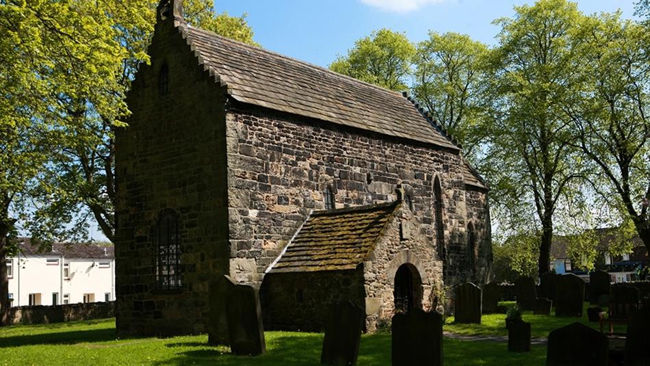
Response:
POLYGON ((466 154, 481 141, 487 54, 485 44, 467 35, 430 32, 414 57, 415 99, 463 144, 466 154))

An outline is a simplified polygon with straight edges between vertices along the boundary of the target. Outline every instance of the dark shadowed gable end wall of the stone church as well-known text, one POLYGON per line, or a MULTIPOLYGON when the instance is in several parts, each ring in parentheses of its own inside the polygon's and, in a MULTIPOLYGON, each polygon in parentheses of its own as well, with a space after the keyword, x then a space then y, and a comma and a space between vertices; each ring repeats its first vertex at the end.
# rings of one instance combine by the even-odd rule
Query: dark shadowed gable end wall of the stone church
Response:
POLYGON ((205 331, 208 283, 228 271, 224 91, 171 22, 159 23, 116 136, 116 302, 119 335, 205 331), (168 93, 159 70, 168 65, 168 93), (179 215, 178 291, 157 289, 159 213, 179 215))

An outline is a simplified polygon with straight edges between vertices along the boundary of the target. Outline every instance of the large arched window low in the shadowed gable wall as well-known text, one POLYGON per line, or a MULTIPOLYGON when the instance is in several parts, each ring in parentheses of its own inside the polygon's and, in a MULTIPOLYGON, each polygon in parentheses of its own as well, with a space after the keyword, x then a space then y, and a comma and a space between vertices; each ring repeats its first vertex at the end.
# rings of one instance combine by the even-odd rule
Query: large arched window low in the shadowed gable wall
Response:
POLYGON ((179 217, 172 210, 161 212, 156 224, 156 279, 158 289, 181 288, 181 241, 179 217))

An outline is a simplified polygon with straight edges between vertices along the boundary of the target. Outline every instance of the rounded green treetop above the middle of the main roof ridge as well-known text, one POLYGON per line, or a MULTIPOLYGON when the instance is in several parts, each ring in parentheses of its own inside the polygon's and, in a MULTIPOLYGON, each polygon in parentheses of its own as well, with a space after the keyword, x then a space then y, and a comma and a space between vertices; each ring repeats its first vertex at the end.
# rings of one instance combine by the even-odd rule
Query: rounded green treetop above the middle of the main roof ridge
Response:
POLYGON ((348 55, 337 57, 330 70, 384 88, 404 91, 415 47, 403 33, 380 29, 354 43, 348 55))

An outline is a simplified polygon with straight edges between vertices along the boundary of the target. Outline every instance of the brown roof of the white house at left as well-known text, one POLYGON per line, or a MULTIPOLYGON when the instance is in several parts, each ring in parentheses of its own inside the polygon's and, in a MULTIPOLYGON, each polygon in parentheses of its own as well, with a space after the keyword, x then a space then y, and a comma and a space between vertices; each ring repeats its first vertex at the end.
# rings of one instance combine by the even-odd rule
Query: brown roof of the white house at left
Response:
POLYGON ((18 238, 18 240, 21 241, 21 255, 62 255, 68 259, 115 258, 114 246, 55 242, 51 246, 40 248, 40 246, 32 244, 28 238, 18 238))

